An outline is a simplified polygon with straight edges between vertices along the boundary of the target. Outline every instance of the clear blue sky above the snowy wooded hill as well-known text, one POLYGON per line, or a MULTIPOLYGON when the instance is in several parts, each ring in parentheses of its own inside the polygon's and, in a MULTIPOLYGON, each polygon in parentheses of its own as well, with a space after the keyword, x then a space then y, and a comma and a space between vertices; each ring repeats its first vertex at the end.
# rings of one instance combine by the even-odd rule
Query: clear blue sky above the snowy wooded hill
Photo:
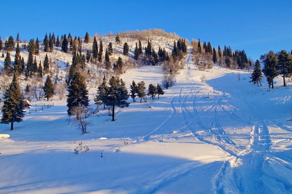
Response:
POLYGON ((160 28, 230 45, 258 59, 270 50, 292 49, 291 1, 8 1, 1 2, 0 36, 20 39, 46 32, 77 35, 160 28))

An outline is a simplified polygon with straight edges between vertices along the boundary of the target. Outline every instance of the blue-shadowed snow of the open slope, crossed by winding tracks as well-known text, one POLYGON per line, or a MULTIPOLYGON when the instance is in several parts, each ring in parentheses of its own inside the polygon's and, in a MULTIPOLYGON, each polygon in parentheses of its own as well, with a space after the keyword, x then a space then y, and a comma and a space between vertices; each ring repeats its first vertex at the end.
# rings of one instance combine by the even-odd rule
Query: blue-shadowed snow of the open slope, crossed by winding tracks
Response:
MULTIPOLYGON (((268 92, 264 79, 259 87, 248 82, 250 71, 240 70, 239 81, 237 70, 203 72, 186 60, 159 100, 129 99, 114 122, 102 110, 88 134, 68 124, 58 96, 12 131, 1 124, 10 135, 0 138, 1 192, 292 193, 291 83, 285 89, 279 76, 268 92)), ((121 77, 127 87, 148 86, 163 74, 143 66, 121 77)))

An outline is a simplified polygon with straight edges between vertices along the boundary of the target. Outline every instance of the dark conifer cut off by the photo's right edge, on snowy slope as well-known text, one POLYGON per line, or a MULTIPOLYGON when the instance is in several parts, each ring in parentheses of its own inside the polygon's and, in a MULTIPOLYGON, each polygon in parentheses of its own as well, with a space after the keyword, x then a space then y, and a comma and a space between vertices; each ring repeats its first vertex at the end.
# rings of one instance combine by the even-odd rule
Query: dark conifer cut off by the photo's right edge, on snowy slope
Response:
POLYGON ((283 75, 284 86, 286 86, 285 77, 292 73, 292 57, 286 50, 282 50, 278 55, 277 70, 283 75))

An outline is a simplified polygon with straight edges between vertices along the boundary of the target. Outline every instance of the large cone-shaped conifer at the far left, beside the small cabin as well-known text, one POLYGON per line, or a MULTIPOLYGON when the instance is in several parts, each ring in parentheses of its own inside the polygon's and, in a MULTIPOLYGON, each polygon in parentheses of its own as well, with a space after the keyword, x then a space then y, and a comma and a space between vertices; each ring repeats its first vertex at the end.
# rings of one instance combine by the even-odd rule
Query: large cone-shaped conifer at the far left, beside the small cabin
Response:
POLYGON ((4 93, 4 104, 2 107, 1 124, 11 123, 10 130, 13 130, 14 122, 21 122, 24 117, 23 111, 23 94, 20 91, 20 86, 16 75, 13 76, 9 88, 4 93))

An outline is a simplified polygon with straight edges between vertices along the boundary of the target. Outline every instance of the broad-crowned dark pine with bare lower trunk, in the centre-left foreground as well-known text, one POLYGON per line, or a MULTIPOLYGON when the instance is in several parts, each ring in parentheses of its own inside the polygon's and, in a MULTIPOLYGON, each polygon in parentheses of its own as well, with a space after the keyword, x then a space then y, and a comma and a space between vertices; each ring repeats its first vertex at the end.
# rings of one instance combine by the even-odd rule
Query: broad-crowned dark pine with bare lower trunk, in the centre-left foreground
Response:
POLYGON ((120 79, 119 77, 112 76, 111 79, 109 79, 109 87, 105 87, 105 96, 107 96, 103 103, 107 106, 112 107, 112 121, 114 121, 115 116, 115 107, 128 107, 129 102, 127 102, 129 98, 128 90, 126 88, 126 83, 123 81, 123 79, 120 79))

